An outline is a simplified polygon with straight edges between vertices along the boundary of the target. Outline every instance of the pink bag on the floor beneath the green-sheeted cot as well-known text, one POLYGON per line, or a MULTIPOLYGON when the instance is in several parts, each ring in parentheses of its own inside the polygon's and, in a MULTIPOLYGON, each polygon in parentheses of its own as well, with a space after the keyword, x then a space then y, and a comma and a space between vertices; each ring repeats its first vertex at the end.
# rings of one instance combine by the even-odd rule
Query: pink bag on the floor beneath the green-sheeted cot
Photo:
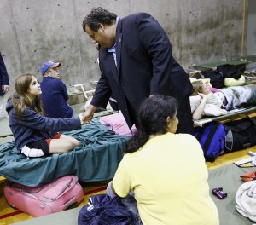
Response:
POLYGON ((10 182, 4 187, 9 205, 31 216, 44 216, 79 205, 84 198, 77 176, 62 176, 41 187, 10 182))

